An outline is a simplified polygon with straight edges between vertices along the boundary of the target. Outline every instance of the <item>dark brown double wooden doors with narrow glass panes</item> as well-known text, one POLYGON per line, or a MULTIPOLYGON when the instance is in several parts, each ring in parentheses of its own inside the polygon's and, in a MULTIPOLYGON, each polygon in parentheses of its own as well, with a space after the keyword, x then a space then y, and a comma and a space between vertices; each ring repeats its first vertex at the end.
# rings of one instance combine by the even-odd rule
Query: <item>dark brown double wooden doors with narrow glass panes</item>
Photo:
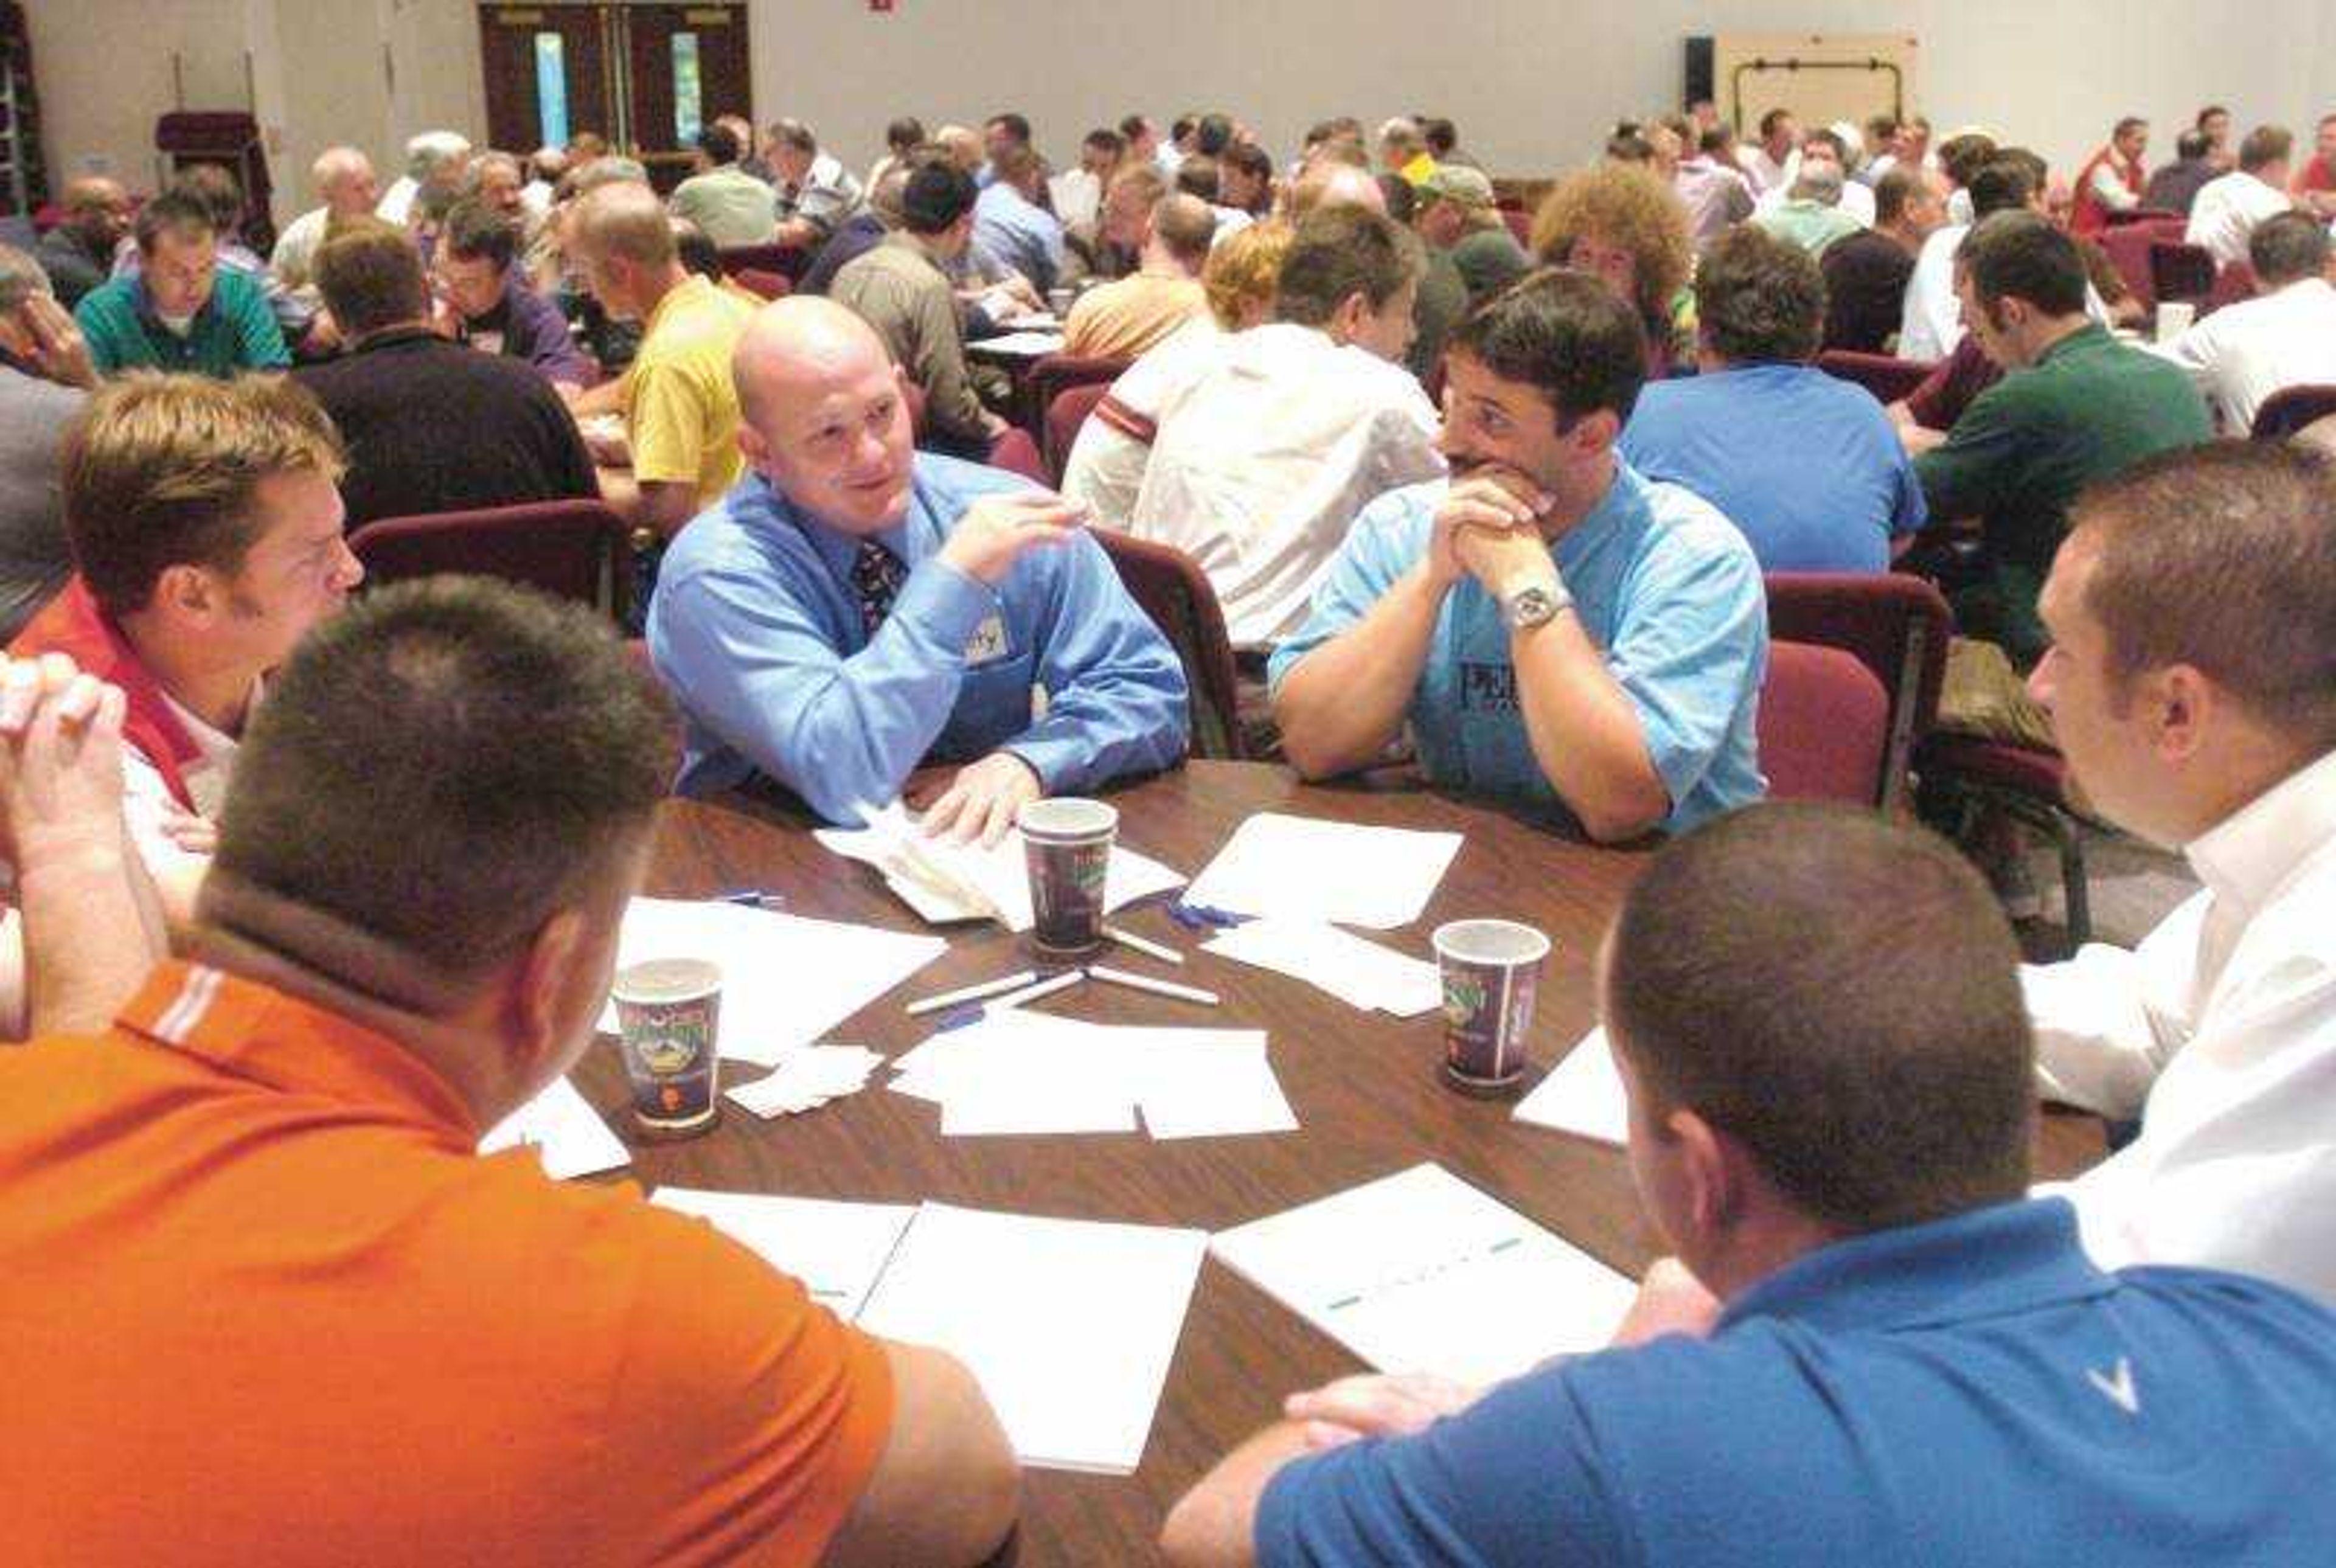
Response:
POLYGON ((481 5, 479 35, 488 136, 512 152, 591 131, 668 187, 701 126, 755 117, 745 5, 481 5))

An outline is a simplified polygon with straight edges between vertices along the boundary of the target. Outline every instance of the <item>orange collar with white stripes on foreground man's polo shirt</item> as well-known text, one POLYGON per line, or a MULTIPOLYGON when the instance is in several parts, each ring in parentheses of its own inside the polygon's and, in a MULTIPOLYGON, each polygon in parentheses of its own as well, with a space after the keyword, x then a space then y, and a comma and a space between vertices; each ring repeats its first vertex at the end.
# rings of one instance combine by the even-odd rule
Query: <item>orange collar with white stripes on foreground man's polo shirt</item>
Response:
POLYGON ((479 1143, 460 1096, 390 1035, 208 963, 157 967, 119 1024, 269 1089, 413 1122, 463 1147, 479 1143))

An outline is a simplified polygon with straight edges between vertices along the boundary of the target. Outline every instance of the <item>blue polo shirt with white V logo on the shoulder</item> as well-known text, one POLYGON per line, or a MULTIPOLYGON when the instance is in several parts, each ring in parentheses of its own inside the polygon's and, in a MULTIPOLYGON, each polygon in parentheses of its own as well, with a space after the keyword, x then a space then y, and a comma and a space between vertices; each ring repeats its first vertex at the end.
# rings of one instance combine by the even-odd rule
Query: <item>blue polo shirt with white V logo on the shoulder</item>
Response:
POLYGON ((1810 1253, 1710 1339, 1549 1362, 1287 1465, 1257 1561, 2327 1563, 2336 1318, 2102 1274, 2060 1199, 1810 1253))

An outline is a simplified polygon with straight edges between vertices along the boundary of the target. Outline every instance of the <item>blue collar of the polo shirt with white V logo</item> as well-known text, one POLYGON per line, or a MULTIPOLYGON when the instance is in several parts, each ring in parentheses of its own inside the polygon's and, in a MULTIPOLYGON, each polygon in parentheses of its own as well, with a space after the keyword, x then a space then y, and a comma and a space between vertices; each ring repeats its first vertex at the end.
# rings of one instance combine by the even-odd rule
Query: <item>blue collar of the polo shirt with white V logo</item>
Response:
POLYGON ((1817 1330, 1909 1330, 2109 1290, 2116 1278, 2084 1255, 2067 1199, 2023 1199, 1806 1253, 1729 1302, 1719 1332, 1750 1318, 1817 1330))

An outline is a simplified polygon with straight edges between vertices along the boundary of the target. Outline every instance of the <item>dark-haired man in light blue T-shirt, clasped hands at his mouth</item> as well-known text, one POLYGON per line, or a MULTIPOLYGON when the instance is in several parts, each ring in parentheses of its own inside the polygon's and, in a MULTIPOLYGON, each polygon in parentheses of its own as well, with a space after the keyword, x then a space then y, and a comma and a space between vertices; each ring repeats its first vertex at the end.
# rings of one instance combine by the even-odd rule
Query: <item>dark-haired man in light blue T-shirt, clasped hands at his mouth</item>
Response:
POLYGON ((1453 479, 1364 507, 1273 654, 1299 773, 1371 766, 1409 722, 1432 780, 1563 804, 1600 841, 1759 799, 1759 563, 1708 502, 1614 453, 1645 362, 1631 306, 1579 271, 1460 325, 1453 479))

